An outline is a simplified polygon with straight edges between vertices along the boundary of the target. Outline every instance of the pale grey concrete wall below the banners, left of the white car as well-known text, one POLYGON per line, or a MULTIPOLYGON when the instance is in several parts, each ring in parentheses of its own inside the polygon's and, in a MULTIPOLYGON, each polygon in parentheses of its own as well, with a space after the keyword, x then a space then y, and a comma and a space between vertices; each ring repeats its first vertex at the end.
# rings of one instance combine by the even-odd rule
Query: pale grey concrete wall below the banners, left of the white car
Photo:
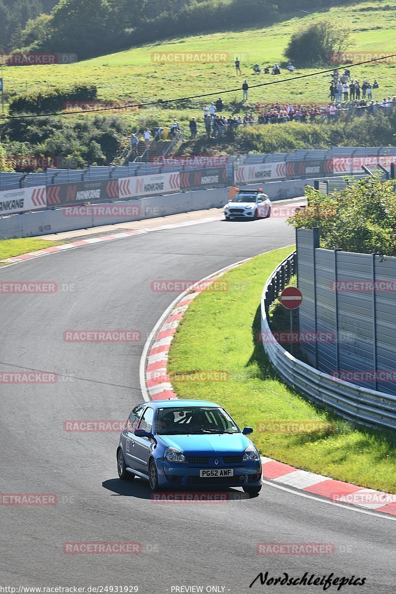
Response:
MULTIPOLYGON (((135 198, 122 202, 101 203, 98 207, 110 206, 137 207, 137 216, 81 216, 80 206, 54 208, 31 213, 20 213, 0 218, 0 239, 21 238, 49 233, 61 233, 75 229, 88 229, 101 225, 134 222, 137 220, 153 219, 169 214, 185 213, 205 208, 218 208, 228 201, 228 188, 204 189, 191 192, 169 194, 166 196, 152 196, 135 198), (74 214, 75 210, 75 214, 74 214)), ((95 205, 91 205, 95 206, 95 205)), ((84 212, 84 211, 82 211, 84 212)))

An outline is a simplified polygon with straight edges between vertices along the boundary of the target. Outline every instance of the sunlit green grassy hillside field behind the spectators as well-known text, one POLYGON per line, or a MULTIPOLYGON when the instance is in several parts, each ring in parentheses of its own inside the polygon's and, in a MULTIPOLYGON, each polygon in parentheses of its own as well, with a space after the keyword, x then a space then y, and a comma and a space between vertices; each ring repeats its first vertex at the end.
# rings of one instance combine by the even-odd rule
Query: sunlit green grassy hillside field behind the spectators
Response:
MULTIPOLYGON (((271 65, 284 62, 283 50, 290 35, 297 27, 304 26, 318 17, 330 18, 335 23, 347 23, 353 30, 353 45, 349 49, 375 52, 387 50, 396 53, 396 3, 391 0, 379 2, 359 2, 328 11, 316 12, 302 17, 290 18, 269 27, 243 31, 221 31, 150 44, 111 55, 101 56, 71 65, 51 65, 32 67, 4 67, 2 77, 6 97, 24 90, 39 90, 45 87, 68 86, 76 83, 95 83, 99 97, 105 100, 138 100, 142 103, 158 99, 173 99, 192 94, 218 90, 239 89, 245 78, 249 84, 273 82, 286 78, 285 82, 267 88, 251 89, 249 102, 327 102, 328 75, 294 81, 286 70, 281 77, 253 75, 251 67, 255 62, 271 65), (229 62, 221 64, 158 64, 151 61, 153 52, 227 52, 229 62), (242 57, 242 76, 236 76, 235 54, 242 57)), ((331 67, 331 65, 329 65, 331 67)), ((373 94, 374 99, 396 93, 396 62, 391 64, 372 64, 352 69, 353 78, 362 83, 364 78, 377 78, 380 89, 373 94)), ((294 75, 308 74, 314 69, 297 69, 294 75)), ((224 103, 242 99, 242 91, 224 94, 224 103)), ((212 97, 208 97, 210 101, 212 97)), ((178 115, 183 121, 191 115, 199 116, 199 106, 206 100, 194 100, 183 108, 160 110, 159 119, 166 124, 178 115)), ((126 114, 131 122, 142 115, 153 117, 159 110, 147 108, 140 115, 126 114)), ((107 112, 109 113, 109 112, 107 112)))

